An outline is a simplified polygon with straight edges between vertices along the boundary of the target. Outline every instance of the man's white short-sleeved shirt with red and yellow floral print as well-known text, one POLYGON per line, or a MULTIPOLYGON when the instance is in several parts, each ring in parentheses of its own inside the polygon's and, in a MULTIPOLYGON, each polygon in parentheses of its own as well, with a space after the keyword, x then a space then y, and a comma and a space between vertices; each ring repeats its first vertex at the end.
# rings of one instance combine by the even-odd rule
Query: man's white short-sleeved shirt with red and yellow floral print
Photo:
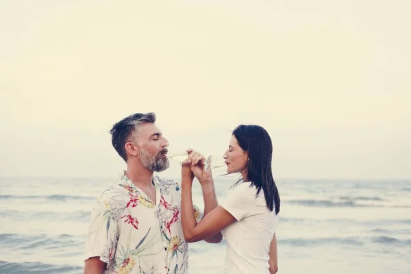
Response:
MULTIPOLYGON (((156 201, 123 172, 91 212, 86 260, 100 257, 105 274, 188 273, 188 244, 181 224, 181 187, 153 177, 156 201)), ((202 213, 195 206, 197 222, 202 213)))

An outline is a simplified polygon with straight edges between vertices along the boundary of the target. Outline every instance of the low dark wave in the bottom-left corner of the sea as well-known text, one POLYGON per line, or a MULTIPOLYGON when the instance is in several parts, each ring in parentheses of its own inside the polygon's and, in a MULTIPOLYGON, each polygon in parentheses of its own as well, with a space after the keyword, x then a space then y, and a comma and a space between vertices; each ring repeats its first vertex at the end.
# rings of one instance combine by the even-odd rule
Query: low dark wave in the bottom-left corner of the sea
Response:
POLYGON ((40 262, 5 262, 0 260, 0 273, 7 274, 78 274, 82 273, 82 270, 83 268, 81 266, 42 264, 40 262))

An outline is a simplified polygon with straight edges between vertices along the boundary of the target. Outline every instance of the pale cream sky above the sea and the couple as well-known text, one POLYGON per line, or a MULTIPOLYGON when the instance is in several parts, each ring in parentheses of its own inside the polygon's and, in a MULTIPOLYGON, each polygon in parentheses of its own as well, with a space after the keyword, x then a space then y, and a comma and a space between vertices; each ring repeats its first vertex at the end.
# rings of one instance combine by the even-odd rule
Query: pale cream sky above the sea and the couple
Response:
POLYGON ((275 178, 411 178, 410 10, 0 1, 0 177, 114 177, 112 124, 153 111, 170 150, 217 158, 236 125, 262 125, 275 178))

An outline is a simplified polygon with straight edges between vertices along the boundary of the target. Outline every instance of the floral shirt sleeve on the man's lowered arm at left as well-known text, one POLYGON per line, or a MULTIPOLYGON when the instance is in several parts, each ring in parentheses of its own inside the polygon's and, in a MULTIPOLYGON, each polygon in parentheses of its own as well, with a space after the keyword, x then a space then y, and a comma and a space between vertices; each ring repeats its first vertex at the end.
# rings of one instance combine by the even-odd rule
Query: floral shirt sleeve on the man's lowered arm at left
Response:
POLYGON ((108 266, 117 246, 117 223, 108 196, 100 197, 90 214, 90 226, 86 238, 85 258, 100 257, 108 266))

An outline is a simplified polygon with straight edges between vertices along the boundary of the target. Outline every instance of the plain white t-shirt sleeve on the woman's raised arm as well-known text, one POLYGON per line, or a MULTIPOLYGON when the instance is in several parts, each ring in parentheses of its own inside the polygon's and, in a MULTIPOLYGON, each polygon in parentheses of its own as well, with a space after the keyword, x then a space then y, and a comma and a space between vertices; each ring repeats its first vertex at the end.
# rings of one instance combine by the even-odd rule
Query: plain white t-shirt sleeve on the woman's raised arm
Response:
POLYGON ((256 188, 250 187, 249 183, 242 183, 229 190, 220 206, 240 221, 252 215, 256 208, 256 188))

